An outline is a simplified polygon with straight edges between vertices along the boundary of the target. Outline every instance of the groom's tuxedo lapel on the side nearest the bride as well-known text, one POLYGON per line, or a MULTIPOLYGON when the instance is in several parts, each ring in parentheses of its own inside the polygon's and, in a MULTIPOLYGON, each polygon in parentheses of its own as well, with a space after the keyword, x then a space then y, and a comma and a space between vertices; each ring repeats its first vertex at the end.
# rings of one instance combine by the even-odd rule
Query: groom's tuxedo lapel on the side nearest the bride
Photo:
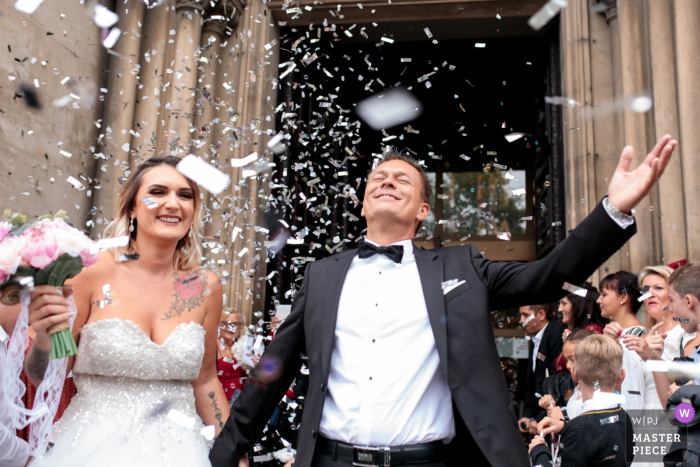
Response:
POLYGON ((333 353, 333 340, 335 338, 335 324, 338 320, 338 306, 340 294, 343 291, 345 276, 350 269, 350 264, 355 257, 355 250, 337 253, 331 256, 335 261, 329 261, 326 271, 325 286, 323 288, 323 327, 321 333, 321 356, 323 374, 327 377, 331 366, 331 354, 333 353))

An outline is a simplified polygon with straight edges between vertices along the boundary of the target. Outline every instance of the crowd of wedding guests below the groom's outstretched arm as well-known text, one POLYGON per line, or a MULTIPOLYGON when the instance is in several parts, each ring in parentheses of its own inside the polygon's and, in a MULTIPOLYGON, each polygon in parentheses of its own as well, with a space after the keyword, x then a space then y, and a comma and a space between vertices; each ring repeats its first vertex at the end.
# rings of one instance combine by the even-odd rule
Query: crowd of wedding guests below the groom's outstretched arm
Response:
MULTIPOLYGON (((646 364, 700 362, 700 264, 675 266, 649 266, 638 276, 619 271, 604 277, 599 291, 586 284, 559 302, 561 324, 549 305, 520 308, 531 345, 518 424, 533 435, 533 465, 557 456, 562 466, 627 465, 634 456, 627 411, 673 411, 690 402, 700 414, 700 380, 646 364)), ((674 419, 682 439, 666 465, 700 465, 698 422, 700 415, 674 419)))

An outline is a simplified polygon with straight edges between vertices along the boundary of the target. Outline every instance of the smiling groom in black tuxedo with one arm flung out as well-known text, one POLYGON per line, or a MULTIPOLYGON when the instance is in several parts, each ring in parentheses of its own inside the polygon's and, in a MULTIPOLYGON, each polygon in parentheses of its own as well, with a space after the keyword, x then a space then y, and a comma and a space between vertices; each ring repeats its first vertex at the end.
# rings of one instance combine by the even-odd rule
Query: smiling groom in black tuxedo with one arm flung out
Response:
POLYGON ((295 467, 529 466, 490 310, 555 301, 564 282, 583 282, 634 235, 632 208, 676 144, 664 136, 632 172, 626 147, 608 197, 530 264, 489 261, 474 245, 414 248, 430 187, 417 162, 389 154, 367 178, 367 240, 307 266, 214 444, 213 466, 246 463, 301 354, 310 380, 295 467))

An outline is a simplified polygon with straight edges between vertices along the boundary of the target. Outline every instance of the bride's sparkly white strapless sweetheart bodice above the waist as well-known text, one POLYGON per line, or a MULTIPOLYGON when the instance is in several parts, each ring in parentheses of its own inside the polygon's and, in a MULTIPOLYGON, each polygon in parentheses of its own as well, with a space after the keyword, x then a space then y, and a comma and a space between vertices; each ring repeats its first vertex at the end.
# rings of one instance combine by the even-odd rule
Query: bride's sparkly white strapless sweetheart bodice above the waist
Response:
POLYGON ((179 324, 162 345, 129 320, 104 319, 80 333, 73 373, 147 380, 192 381, 204 356, 204 328, 179 324))

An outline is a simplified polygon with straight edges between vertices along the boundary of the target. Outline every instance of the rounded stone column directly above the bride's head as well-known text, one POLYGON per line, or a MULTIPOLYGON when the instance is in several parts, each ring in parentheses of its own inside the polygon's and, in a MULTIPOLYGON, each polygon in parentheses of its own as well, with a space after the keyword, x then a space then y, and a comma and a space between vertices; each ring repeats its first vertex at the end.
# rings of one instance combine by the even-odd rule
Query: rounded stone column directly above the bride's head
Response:
MULTIPOLYGON (((165 120, 165 144, 162 148, 166 155, 184 155, 190 151, 195 103, 195 92, 192 89, 197 86, 203 11, 203 0, 175 0, 177 28, 173 64, 171 67, 170 63, 166 63, 163 81, 169 86, 161 110, 161 118, 165 120)), ((161 145, 158 150, 161 150, 161 145)))

